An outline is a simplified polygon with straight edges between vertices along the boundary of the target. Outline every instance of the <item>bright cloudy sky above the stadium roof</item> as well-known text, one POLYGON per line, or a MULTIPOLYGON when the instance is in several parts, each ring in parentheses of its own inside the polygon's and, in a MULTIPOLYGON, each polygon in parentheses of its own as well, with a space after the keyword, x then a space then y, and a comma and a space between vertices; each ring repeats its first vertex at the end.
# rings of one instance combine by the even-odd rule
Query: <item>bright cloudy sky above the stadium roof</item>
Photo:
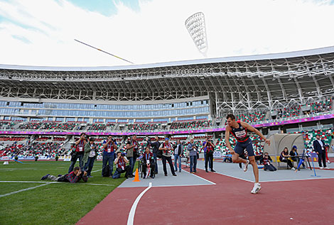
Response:
POLYGON ((203 58, 185 19, 203 12, 207 57, 334 45, 334 1, 0 0, 0 64, 129 65, 203 58))

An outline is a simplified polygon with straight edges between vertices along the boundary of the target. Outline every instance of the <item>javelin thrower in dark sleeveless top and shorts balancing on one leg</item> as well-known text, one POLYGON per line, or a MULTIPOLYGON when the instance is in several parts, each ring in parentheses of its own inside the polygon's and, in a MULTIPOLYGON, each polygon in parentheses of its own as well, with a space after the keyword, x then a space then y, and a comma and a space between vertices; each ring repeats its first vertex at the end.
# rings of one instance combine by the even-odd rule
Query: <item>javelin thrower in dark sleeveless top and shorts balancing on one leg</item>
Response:
POLYGON ((250 126, 249 124, 241 121, 235 121, 235 116, 233 114, 228 114, 226 116, 227 126, 225 129, 225 143, 227 148, 232 154, 233 163, 244 163, 244 172, 247 171, 248 164, 252 164, 255 183, 251 191, 252 194, 257 194, 261 190, 261 185, 259 183, 259 169, 257 168, 257 163, 255 162, 254 149, 252 145, 252 140, 247 135, 247 131, 252 131, 260 136, 265 143, 270 146, 270 140, 264 138, 263 134, 260 133, 256 128, 250 126), (233 150, 230 144, 230 133, 237 139, 237 145, 233 150), (239 158, 239 155, 244 153, 244 149, 247 150, 249 160, 239 158))

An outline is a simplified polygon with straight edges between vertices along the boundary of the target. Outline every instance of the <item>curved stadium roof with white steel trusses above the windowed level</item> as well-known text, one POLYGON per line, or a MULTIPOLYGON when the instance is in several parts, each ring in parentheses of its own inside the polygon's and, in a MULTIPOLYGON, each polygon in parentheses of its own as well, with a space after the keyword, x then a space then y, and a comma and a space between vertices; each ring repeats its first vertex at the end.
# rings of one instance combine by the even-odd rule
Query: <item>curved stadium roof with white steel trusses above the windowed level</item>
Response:
POLYGON ((122 67, 0 65, 0 97, 154 101, 210 96, 217 109, 334 94, 334 47, 122 67))

